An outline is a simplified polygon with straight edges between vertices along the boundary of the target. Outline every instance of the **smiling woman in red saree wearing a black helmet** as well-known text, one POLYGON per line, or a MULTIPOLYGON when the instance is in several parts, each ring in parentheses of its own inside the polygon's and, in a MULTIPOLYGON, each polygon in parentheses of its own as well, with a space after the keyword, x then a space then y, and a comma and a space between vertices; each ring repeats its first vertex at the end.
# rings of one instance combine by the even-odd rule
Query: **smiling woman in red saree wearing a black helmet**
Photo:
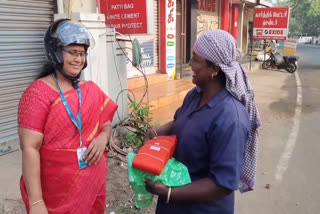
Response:
MULTIPOLYGON (((53 31, 57 31, 64 25, 80 26, 60 20, 51 27, 55 26, 57 29, 53 31)), ((23 155, 20 188, 30 214, 102 214, 105 210, 105 146, 117 105, 93 82, 74 83, 77 78, 72 77, 79 77, 86 66, 90 45, 81 41, 62 47, 61 70, 67 75, 53 70, 56 81, 53 75, 44 75, 28 87, 20 100, 18 126, 23 155), (76 86, 80 89, 81 103, 76 86), (79 168, 77 157, 80 132, 70 119, 59 88, 73 115, 81 109, 81 138, 83 146, 88 148, 84 158, 89 164, 84 169, 79 168)))

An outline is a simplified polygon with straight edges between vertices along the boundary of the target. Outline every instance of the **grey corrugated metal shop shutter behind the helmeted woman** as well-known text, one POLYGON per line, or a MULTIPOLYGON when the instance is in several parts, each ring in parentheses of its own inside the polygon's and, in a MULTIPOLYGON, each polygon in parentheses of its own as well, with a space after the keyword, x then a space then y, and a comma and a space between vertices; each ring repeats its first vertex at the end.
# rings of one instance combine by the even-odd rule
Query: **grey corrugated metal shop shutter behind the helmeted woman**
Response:
POLYGON ((1 146, 17 141, 19 99, 43 64, 43 36, 55 5, 54 0, 0 0, 0 155, 11 148, 1 146))

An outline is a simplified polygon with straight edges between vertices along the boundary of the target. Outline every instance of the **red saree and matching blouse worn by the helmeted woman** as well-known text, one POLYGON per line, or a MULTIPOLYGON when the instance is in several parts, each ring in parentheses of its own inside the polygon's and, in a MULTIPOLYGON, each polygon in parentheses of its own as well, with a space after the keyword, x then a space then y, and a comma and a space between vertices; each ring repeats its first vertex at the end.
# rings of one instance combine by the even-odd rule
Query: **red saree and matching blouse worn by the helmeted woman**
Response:
MULTIPOLYGON (((93 82, 80 85, 82 95, 82 139, 88 147, 112 121, 117 105, 93 82)), ((74 115, 79 101, 75 89, 64 93, 74 115)), ((53 214, 100 214, 105 210, 107 162, 103 156, 97 165, 80 170, 76 149, 79 131, 67 114, 59 93, 42 80, 33 82, 24 92, 18 113, 19 127, 43 133, 40 149, 41 187, 44 202, 53 214)), ((29 211, 29 200, 21 177, 21 195, 29 211)))

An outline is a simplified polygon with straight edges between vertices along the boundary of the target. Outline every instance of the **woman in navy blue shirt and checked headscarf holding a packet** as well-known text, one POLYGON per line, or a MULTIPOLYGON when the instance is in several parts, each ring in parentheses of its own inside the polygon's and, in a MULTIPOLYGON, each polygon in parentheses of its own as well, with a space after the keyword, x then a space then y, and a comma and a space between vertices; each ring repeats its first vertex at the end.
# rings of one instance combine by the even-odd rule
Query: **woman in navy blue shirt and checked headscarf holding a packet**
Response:
POLYGON ((174 120, 156 129, 178 137, 174 157, 188 167, 192 182, 171 188, 145 180, 159 195, 157 214, 232 214, 234 191, 253 189, 260 119, 236 58, 236 42, 225 31, 208 31, 195 43, 189 65, 196 87, 174 120))

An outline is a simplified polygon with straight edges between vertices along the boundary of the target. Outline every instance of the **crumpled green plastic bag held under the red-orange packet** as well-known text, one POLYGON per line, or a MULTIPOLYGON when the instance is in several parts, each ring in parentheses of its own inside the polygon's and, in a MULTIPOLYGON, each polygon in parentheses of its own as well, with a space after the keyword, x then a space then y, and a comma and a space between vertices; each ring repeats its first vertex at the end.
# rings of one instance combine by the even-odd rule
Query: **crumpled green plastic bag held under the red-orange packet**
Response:
POLYGON ((143 182, 144 178, 148 178, 153 182, 161 182, 170 187, 184 186, 191 183, 188 168, 174 158, 168 161, 161 175, 156 176, 133 169, 132 161, 135 156, 134 153, 128 154, 128 172, 130 185, 135 193, 133 201, 139 209, 147 208, 151 206, 153 202, 153 194, 146 190, 145 183, 143 182))

